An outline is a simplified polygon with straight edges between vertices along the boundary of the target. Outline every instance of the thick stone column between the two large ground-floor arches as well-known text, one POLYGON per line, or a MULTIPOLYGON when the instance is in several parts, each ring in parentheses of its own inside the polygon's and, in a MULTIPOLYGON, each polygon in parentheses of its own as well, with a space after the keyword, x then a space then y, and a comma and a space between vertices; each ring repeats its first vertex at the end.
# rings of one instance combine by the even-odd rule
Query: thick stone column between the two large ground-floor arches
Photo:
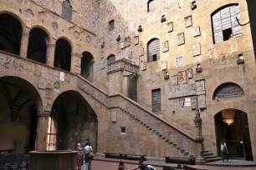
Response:
POLYGON ((47 132, 49 127, 50 112, 38 111, 38 128, 37 128, 37 140, 36 150, 47 150, 47 132))

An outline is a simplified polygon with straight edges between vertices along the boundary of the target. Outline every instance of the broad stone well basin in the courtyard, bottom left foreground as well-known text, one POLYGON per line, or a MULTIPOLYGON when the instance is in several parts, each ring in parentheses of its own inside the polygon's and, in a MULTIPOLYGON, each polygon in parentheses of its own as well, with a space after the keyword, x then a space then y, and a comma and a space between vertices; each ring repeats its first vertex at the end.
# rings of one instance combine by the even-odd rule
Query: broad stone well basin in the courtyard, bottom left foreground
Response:
POLYGON ((30 170, 76 170, 77 151, 32 151, 30 170))

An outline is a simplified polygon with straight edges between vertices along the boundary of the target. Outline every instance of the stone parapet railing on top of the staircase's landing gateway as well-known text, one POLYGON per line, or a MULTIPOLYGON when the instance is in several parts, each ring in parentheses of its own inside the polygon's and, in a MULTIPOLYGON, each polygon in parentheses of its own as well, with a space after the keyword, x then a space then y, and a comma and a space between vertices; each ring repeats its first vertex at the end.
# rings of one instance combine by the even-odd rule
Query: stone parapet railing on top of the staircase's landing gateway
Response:
POLYGON ((126 60, 125 58, 108 64, 108 74, 111 72, 118 72, 120 70, 138 74, 140 72, 140 66, 136 65, 135 62, 126 60))

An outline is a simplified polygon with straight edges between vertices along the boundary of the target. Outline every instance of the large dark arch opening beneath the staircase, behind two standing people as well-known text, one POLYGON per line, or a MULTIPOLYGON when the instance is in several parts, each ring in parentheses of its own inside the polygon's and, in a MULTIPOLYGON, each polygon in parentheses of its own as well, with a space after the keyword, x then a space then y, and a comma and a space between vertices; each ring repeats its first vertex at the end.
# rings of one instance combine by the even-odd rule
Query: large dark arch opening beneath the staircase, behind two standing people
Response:
POLYGON ((49 126, 48 150, 74 150, 90 140, 97 151, 97 116, 79 92, 63 92, 55 99, 49 126))

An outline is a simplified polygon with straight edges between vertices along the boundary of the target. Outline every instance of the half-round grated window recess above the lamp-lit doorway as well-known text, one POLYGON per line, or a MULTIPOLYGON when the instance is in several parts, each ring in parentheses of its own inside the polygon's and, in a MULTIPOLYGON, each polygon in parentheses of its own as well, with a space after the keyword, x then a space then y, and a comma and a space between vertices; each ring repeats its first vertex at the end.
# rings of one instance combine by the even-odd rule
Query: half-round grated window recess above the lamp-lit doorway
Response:
POLYGON ((212 99, 218 100, 220 98, 228 97, 242 97, 245 93, 243 88, 234 82, 224 82, 219 85, 213 92, 212 99))

